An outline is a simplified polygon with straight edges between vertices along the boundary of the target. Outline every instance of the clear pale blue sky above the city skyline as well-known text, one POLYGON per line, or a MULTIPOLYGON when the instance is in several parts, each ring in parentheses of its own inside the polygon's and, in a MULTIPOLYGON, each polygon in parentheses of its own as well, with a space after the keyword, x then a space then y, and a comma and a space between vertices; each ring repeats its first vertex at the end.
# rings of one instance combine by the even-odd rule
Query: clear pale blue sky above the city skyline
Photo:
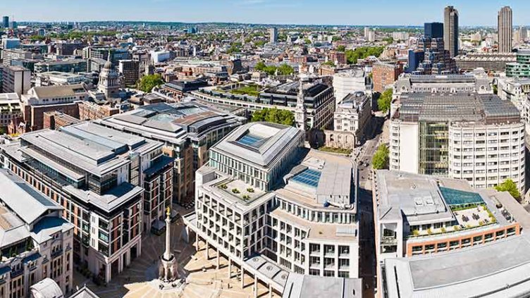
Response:
POLYGON ((260 24, 422 25, 455 6, 461 26, 496 25, 511 6, 514 25, 530 25, 530 0, 1 0, 21 21, 150 20, 260 24))

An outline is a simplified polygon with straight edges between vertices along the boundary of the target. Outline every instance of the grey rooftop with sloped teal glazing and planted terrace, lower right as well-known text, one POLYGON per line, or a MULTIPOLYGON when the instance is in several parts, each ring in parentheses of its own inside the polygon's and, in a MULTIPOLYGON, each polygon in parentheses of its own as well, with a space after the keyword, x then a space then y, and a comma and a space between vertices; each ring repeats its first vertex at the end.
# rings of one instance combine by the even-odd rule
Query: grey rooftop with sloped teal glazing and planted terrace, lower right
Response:
POLYGON ((512 218, 514 208, 501 210, 498 207, 499 198, 505 200, 509 194, 474 190, 465 180, 378 170, 376 183, 378 221, 407 221, 411 226, 444 222, 460 225, 457 230, 447 228, 445 232, 433 230, 432 235, 405 235, 407 237, 443 237, 446 232, 467 232, 488 225, 505 226, 518 219, 512 218))

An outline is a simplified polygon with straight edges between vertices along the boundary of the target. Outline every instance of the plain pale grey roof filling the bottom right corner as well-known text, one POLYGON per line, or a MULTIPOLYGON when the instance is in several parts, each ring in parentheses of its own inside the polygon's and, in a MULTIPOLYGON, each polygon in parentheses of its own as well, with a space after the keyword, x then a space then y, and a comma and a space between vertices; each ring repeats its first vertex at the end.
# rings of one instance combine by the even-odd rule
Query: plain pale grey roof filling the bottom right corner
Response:
POLYGON ((530 240, 509 237, 443 254, 385 259, 389 297, 526 297, 530 240))

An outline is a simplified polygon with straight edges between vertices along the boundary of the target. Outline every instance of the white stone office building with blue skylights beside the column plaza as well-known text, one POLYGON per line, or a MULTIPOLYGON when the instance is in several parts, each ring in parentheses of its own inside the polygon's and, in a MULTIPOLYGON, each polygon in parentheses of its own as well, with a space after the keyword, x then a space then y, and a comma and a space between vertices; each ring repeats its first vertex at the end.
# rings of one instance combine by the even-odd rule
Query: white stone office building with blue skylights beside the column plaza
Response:
POLYGON ((291 272, 359 275, 355 166, 303 143, 304 133, 285 125, 234 130, 197 170, 195 213, 184 217, 196 244, 278 292, 291 272), (265 273, 272 268, 278 274, 265 273))

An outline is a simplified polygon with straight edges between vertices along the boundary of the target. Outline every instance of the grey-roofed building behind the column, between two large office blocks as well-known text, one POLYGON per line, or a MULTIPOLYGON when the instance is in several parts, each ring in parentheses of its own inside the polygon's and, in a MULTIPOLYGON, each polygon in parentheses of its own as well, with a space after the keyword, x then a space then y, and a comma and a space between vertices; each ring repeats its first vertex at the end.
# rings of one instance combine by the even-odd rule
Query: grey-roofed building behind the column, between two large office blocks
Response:
POLYGON ((209 148, 245 121, 196 102, 150 104, 95 120, 106 127, 164 143, 164 154, 175 159, 175 202, 193 197, 195 170, 207 163, 209 148))

